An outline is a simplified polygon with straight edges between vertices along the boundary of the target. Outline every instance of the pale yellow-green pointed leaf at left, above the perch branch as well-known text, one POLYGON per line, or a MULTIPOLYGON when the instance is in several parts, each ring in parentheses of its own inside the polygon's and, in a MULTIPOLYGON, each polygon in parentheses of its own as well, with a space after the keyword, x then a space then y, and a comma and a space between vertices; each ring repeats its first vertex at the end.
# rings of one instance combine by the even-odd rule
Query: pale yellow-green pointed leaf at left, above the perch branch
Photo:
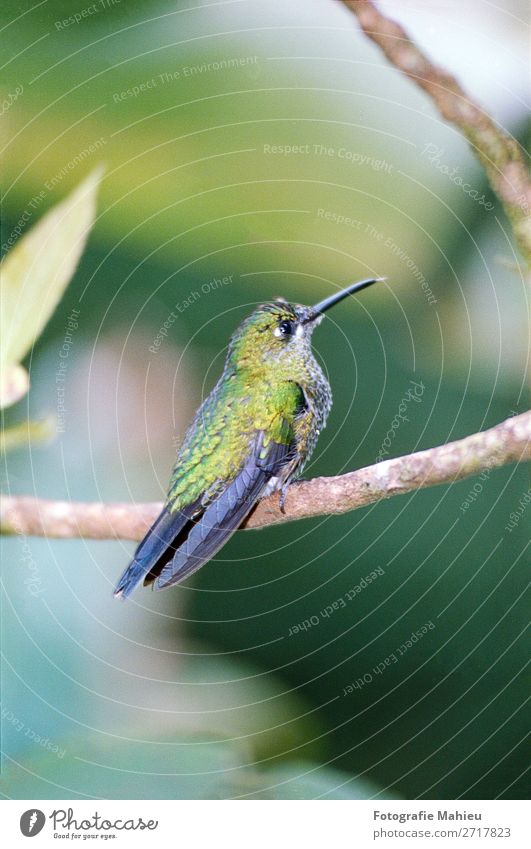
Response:
POLYGON ((14 403, 28 389, 27 375, 17 364, 39 337, 76 269, 94 223, 101 175, 101 167, 95 169, 19 239, 2 263, 1 406, 14 403))

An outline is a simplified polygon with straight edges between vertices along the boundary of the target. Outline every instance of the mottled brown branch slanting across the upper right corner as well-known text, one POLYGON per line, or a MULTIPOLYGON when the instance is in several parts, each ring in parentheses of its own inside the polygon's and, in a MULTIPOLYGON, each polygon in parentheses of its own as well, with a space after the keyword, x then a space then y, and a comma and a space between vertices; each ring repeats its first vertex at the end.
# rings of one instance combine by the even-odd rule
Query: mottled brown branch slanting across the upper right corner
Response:
POLYGON ((389 62, 423 89, 442 117, 464 133, 503 204, 522 254, 531 262, 531 181, 516 140, 470 98, 452 74, 430 62, 404 28, 378 11, 371 0, 342 2, 389 62))

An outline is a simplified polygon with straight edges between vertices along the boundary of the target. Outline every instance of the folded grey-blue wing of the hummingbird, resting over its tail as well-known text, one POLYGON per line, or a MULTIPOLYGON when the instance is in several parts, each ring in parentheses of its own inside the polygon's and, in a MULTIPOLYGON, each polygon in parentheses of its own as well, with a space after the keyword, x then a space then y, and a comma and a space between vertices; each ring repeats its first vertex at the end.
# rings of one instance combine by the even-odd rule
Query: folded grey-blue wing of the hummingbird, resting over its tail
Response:
POLYGON ((155 588, 162 590, 179 583, 210 560, 250 513, 271 478, 293 456, 292 441, 271 441, 264 448, 263 434, 259 434, 243 469, 192 525, 186 539, 155 579, 155 588))

